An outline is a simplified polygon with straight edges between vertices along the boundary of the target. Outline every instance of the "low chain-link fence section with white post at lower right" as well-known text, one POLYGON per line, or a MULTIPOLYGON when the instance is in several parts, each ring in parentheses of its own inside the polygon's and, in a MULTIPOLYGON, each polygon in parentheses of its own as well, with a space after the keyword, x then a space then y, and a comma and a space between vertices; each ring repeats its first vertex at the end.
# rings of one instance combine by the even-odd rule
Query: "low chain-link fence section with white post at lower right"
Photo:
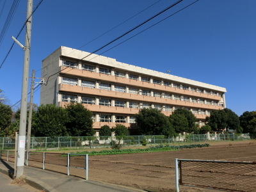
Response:
POLYGON ((256 162, 175 159, 175 186, 253 192, 256 162))

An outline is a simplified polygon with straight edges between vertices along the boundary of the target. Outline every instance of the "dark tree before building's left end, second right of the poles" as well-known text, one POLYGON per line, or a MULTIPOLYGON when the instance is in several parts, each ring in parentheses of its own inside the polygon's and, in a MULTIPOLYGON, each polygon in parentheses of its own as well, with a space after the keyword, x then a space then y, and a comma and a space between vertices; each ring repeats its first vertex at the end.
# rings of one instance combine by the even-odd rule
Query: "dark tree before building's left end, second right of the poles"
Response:
POLYGON ((95 130, 92 128, 92 111, 84 108, 83 104, 68 104, 67 122, 65 124, 69 136, 93 136, 95 130))

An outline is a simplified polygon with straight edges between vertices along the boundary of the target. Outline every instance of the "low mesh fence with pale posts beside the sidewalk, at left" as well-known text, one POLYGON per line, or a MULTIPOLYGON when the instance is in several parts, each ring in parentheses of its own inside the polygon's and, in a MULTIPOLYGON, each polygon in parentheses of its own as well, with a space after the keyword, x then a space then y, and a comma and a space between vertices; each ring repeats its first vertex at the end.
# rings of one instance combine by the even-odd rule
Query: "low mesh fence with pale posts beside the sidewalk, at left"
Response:
MULTIPOLYGON (((14 150, 0 150, 0 159, 15 162, 14 150)), ((67 175, 70 168, 85 170, 84 177, 88 180, 88 154, 62 154, 51 152, 25 152, 26 166, 34 166, 43 170, 58 172, 58 167, 66 167, 67 175)), ((61 169, 65 170, 65 169, 61 169)))

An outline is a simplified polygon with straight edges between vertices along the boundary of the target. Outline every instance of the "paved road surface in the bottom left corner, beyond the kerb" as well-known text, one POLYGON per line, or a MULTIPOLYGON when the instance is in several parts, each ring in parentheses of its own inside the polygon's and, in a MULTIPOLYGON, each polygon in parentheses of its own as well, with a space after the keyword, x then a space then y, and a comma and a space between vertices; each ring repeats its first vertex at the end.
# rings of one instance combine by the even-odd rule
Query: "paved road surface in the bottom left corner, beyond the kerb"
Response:
POLYGON ((13 180, 7 175, 0 173, 0 192, 37 192, 38 189, 32 188, 28 184, 13 184, 13 180))

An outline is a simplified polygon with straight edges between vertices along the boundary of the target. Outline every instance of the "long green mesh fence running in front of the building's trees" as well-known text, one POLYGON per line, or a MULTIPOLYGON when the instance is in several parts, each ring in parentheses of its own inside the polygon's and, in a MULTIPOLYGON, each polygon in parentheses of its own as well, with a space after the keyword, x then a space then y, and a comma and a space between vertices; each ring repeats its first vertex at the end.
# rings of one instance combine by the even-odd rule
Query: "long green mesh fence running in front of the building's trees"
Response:
MULTIPOLYGON (((47 148, 95 148, 108 147, 111 141, 120 141, 122 145, 141 145, 147 141, 147 144, 162 143, 195 143, 204 141, 234 141, 251 140, 250 134, 179 134, 177 137, 165 138, 163 135, 154 136, 124 136, 118 138, 115 136, 92 136, 92 137, 31 137, 30 148, 44 150, 47 148)), ((0 138, 0 150, 10 150, 15 148, 15 138, 0 138)))

